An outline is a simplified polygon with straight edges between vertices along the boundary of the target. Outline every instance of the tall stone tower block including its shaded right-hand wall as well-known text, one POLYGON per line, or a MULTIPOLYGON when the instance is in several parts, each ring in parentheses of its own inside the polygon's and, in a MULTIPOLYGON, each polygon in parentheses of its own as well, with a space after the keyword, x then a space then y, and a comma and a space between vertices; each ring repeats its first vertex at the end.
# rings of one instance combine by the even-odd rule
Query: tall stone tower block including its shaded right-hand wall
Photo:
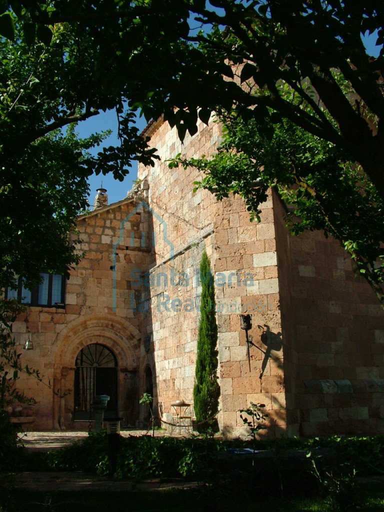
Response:
POLYGON ((150 273, 189 278, 186 286, 155 280, 146 290, 143 327, 154 340, 163 418, 173 401, 193 400, 199 311, 184 305, 199 296, 193 276, 205 247, 216 284, 223 434, 246 436, 239 411, 250 402, 265 404, 270 436, 381 432, 384 316, 338 242, 320 232, 291 237, 272 193, 260 224, 250 223, 239 198, 193 194, 202 176, 169 169, 166 160, 210 155, 220 143, 218 124, 201 124, 184 144, 161 121, 146 135, 161 156, 154 168, 139 168, 156 212, 150 273), (249 361, 243 312, 252 314, 249 361))

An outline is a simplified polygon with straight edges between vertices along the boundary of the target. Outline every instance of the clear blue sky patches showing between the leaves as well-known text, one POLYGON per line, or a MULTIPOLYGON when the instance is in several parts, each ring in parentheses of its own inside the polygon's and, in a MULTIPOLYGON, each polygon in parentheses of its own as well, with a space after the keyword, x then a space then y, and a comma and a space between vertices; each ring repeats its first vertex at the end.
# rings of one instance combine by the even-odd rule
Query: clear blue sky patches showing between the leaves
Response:
MULTIPOLYGON (((363 38, 364 43, 368 49, 368 53, 374 57, 378 56, 380 47, 375 46, 377 35, 374 33, 368 38, 363 38)), ((137 127, 139 130, 143 130, 146 125, 145 119, 139 118, 137 121, 137 127)), ((105 139, 105 146, 115 145, 117 144, 117 121, 116 121, 116 113, 115 111, 109 112, 101 112, 98 116, 91 117, 86 121, 82 121, 78 124, 77 132, 80 137, 88 137, 90 134, 95 132, 102 132, 104 130, 112 130, 112 134, 105 139)), ((100 151, 100 148, 96 148, 94 150, 95 153, 100 151)), ((129 175, 127 175, 124 181, 117 181, 113 178, 112 174, 108 174, 106 176, 91 176, 89 179, 90 184, 90 198, 89 202, 91 205, 94 203, 94 199, 96 196, 96 189, 102 186, 108 190, 108 203, 116 203, 121 199, 126 197, 126 193, 128 190, 132 188, 132 182, 137 178, 137 163, 132 163, 132 168, 130 170, 129 175)))

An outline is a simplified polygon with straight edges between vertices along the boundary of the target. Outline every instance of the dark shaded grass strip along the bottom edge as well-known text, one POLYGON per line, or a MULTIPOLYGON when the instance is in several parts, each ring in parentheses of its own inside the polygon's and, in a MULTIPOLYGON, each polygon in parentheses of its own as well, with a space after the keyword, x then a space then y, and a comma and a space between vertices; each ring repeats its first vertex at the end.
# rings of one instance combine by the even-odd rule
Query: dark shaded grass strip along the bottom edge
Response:
MULTIPOLYGON (((384 510, 384 489, 370 485, 359 512, 384 510)), ((233 512, 263 510, 263 512, 334 512, 323 498, 266 498, 254 493, 238 495, 231 490, 199 487, 186 490, 152 492, 90 492, 42 493, 25 490, 11 498, 0 512, 233 512)), ((355 509, 353 509, 355 510, 355 509)))

